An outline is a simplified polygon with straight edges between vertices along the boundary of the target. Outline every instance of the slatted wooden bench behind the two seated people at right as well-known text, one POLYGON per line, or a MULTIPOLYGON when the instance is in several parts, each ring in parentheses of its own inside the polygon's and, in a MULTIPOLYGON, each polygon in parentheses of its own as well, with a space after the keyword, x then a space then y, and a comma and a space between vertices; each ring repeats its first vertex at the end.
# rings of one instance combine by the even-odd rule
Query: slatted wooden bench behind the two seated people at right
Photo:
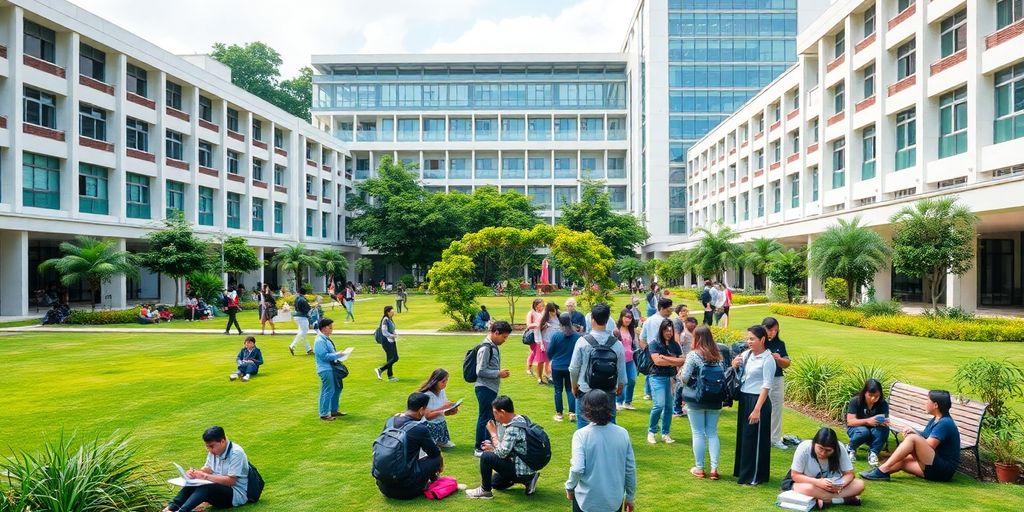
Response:
MULTIPOLYGON (((894 382, 889 389, 889 421, 892 434, 899 442, 899 434, 905 428, 918 432, 925 429, 932 415, 928 414, 928 390, 911 386, 905 382, 894 382)), ((988 403, 971 399, 952 397, 949 416, 956 423, 961 434, 961 451, 970 450, 974 453, 977 475, 981 476, 981 457, 978 454, 978 436, 981 434, 981 423, 985 418, 988 403)))

